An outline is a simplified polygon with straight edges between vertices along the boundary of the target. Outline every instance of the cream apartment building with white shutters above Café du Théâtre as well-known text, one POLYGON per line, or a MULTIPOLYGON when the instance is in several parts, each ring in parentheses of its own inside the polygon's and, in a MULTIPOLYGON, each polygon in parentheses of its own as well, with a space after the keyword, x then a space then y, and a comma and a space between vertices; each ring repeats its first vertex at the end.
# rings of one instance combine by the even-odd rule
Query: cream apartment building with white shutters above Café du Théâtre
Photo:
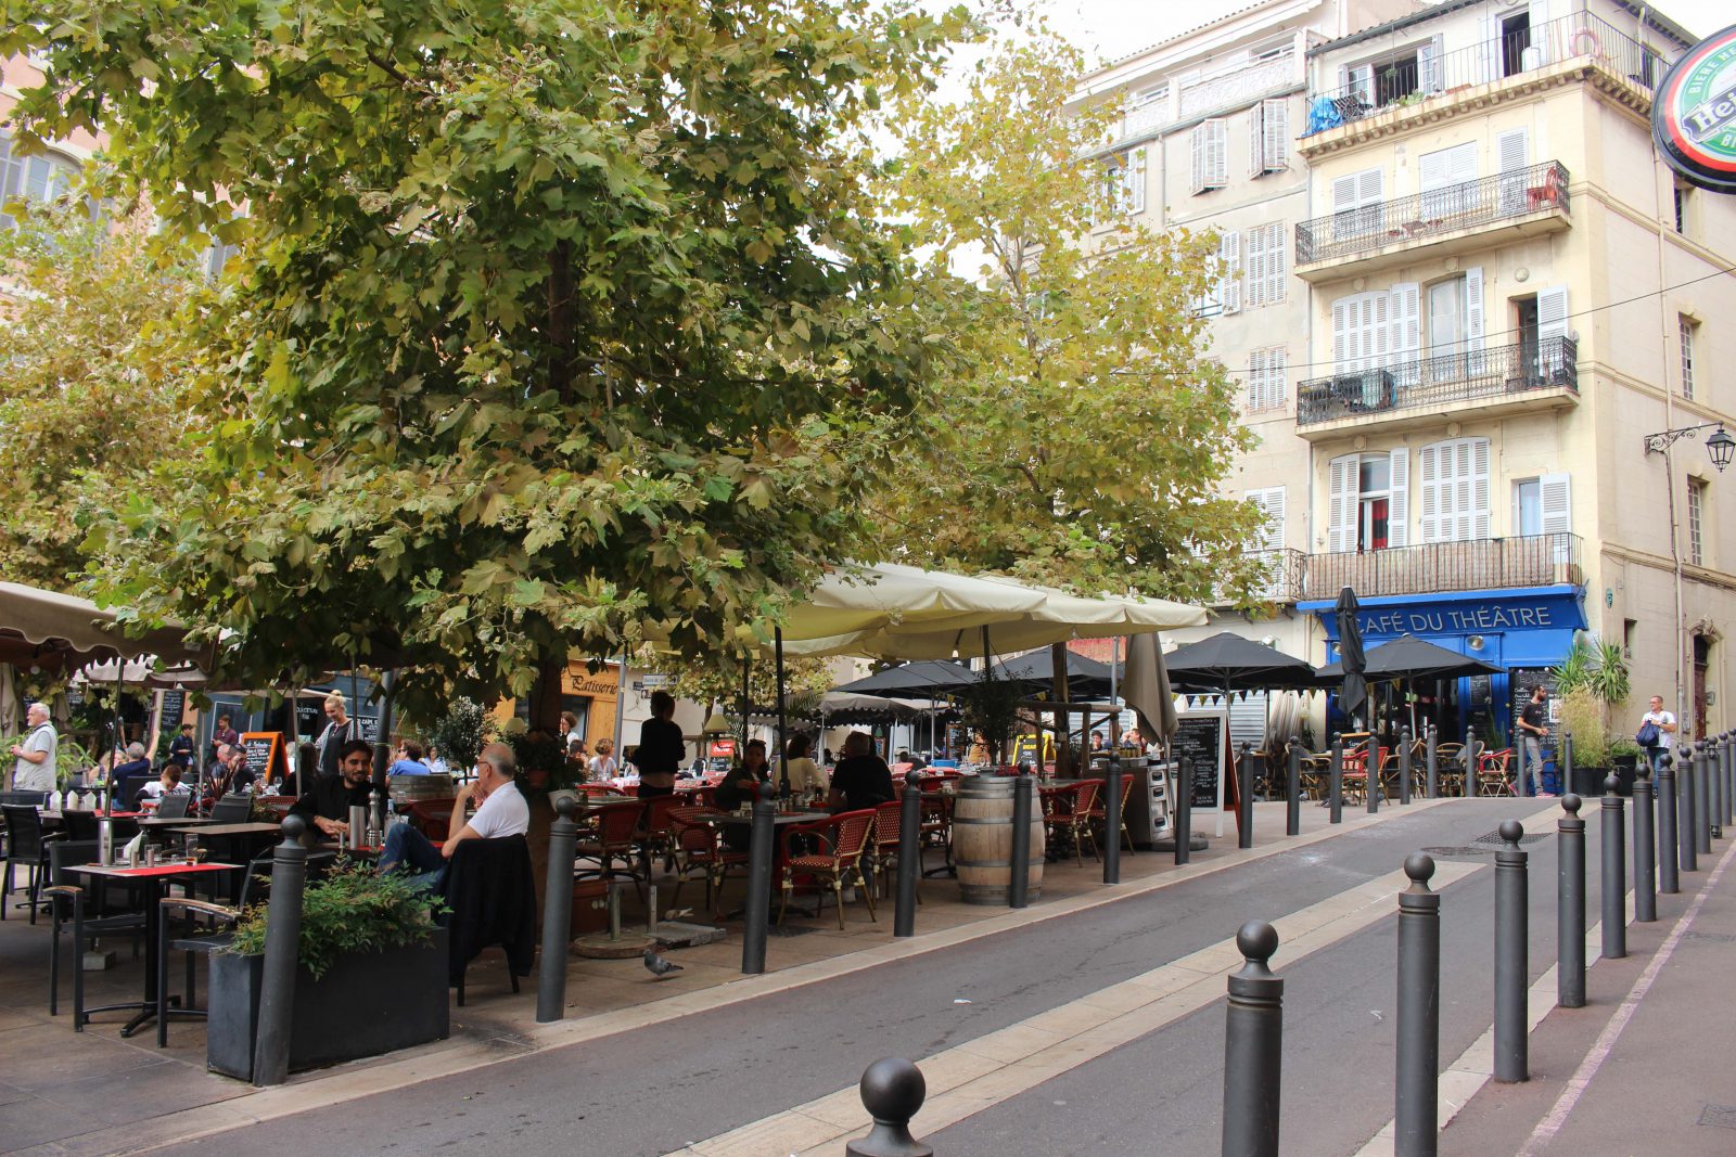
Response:
MULTIPOLYGON (((1243 232, 1243 309, 1213 323, 1213 354, 1264 397, 1259 350, 1293 335, 1283 401, 1246 413, 1260 442, 1234 475, 1271 513, 1250 546, 1278 552, 1285 581, 1269 618, 1220 626, 1321 663, 1352 586, 1368 642, 1415 633, 1514 671, 1429 704, 1496 732, 1583 631, 1627 649, 1641 701, 1719 730, 1736 501, 1708 430, 1668 454, 1644 437, 1736 406, 1717 326, 1736 307, 1736 201, 1675 180, 1647 121, 1693 36, 1613 0, 1397 9, 1233 17, 1248 43, 1297 43, 1283 196, 1212 206, 1191 151, 1165 147, 1158 224, 1243 232), (1245 305, 1250 215, 1290 238, 1267 317, 1245 305)), ((1092 83, 1132 92, 1135 73, 1092 83)))

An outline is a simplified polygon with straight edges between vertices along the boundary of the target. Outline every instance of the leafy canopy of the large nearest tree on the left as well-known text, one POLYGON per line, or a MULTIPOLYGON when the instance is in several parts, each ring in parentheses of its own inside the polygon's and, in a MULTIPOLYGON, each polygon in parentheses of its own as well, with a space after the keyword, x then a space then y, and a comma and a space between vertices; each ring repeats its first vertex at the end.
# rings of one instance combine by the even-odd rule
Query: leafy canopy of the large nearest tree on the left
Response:
POLYGON ((871 0, 19 0, 21 142, 102 127, 170 231, 198 453, 97 526, 102 597, 222 675, 523 694, 653 623, 694 654, 861 546, 934 373, 868 130, 962 14, 871 0), (148 557, 149 565, 115 560, 148 557))

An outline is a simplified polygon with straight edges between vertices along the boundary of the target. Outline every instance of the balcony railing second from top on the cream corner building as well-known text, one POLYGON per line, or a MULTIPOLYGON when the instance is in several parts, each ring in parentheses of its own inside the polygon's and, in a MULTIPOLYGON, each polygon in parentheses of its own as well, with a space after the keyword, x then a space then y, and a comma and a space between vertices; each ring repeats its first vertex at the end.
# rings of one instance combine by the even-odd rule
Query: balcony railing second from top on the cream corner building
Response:
POLYGON ((1417 196, 1363 205, 1297 226, 1297 265, 1373 253, 1387 245, 1417 243, 1458 229, 1493 226, 1542 210, 1571 210, 1568 170, 1543 161, 1481 180, 1467 180, 1417 196))

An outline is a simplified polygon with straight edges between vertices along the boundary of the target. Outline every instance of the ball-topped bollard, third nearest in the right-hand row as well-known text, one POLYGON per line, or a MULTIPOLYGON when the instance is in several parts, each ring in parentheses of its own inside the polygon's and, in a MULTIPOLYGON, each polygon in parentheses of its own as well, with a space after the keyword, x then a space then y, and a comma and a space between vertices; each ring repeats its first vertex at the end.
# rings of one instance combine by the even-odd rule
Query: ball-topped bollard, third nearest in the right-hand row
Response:
POLYGON ((1441 897, 1429 890, 1434 860, 1404 860, 1399 892, 1397 1074, 1392 1082, 1394 1154, 1434 1157, 1441 1110, 1441 897))

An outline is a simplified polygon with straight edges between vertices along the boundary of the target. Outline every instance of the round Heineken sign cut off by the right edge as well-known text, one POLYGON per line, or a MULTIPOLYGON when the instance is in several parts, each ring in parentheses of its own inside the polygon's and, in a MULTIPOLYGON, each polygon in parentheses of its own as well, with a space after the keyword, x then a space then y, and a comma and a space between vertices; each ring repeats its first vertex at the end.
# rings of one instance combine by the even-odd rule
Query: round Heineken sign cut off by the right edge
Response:
POLYGON ((1736 26, 1670 68, 1651 106, 1651 135, 1689 182, 1736 193, 1736 26))

